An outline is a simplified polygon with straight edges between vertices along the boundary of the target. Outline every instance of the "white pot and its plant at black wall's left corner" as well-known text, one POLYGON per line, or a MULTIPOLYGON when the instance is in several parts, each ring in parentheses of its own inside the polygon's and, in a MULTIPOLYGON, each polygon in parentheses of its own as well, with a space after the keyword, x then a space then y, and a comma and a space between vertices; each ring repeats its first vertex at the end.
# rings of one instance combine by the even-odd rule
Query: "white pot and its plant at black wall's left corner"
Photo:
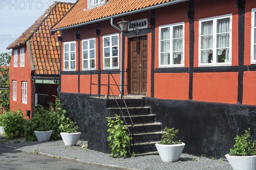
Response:
MULTIPOLYGON (((63 115, 64 116, 64 115, 63 115)), ((79 127, 76 126, 76 122, 73 122, 71 119, 64 117, 62 119, 59 130, 61 130, 61 138, 66 146, 76 145, 81 133, 78 132, 79 127)))

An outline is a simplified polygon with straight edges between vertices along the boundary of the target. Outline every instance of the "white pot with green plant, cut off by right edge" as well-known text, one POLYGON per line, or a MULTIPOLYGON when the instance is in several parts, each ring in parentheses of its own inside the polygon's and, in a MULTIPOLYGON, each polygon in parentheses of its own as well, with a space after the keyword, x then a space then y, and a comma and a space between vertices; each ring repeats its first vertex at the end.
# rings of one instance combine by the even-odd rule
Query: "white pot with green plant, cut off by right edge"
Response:
POLYGON ((244 135, 237 135, 235 145, 230 153, 225 155, 234 170, 256 169, 256 141, 251 140, 250 128, 244 130, 244 135))

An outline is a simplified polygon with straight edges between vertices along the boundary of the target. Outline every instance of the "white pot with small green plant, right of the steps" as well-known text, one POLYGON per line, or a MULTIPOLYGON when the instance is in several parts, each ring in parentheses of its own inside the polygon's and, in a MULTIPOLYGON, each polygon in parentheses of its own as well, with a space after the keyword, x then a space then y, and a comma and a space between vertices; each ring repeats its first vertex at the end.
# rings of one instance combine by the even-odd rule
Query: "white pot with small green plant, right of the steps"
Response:
POLYGON ((155 144, 163 162, 175 162, 180 158, 185 144, 180 140, 174 140, 177 138, 177 133, 179 130, 166 126, 161 141, 155 144))

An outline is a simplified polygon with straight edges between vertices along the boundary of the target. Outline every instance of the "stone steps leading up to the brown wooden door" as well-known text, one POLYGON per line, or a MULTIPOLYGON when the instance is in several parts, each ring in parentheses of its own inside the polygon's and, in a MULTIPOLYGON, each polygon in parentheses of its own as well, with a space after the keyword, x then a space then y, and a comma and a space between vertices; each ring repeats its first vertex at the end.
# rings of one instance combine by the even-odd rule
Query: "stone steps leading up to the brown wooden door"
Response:
MULTIPOLYGON (((120 105, 121 99, 117 99, 117 102, 120 105)), ((125 102, 134 124, 131 153, 134 151, 136 155, 155 154, 157 152, 155 144, 160 141, 162 136, 161 124, 155 121, 155 115, 151 114, 150 108, 145 107, 145 98, 125 98, 125 102)), ((113 119, 115 114, 121 114, 115 99, 108 99, 106 106, 113 119)), ((131 120, 123 102, 122 113, 124 114, 122 119, 125 119, 128 129, 132 133, 131 120)))

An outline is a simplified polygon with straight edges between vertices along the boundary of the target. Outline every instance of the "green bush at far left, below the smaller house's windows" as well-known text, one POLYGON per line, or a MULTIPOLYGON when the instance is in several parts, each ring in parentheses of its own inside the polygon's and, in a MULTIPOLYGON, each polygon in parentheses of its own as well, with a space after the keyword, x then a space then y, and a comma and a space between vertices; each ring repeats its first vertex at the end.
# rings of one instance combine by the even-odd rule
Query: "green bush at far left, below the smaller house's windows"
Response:
POLYGON ((7 138, 20 137, 24 134, 25 118, 22 111, 7 111, 3 119, 5 134, 7 138))

